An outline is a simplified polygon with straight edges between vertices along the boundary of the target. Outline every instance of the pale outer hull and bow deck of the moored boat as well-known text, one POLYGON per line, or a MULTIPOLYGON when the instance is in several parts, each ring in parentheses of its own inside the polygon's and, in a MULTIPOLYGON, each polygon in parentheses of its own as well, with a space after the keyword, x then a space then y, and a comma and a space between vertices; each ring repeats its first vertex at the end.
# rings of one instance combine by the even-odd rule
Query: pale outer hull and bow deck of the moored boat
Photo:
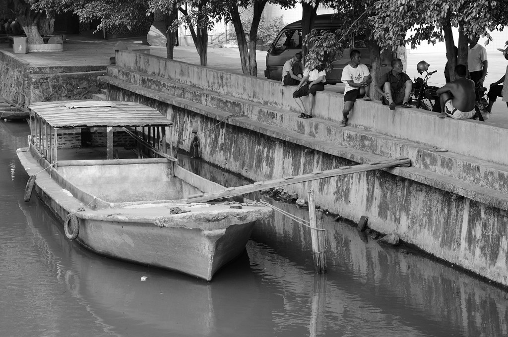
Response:
POLYGON ((37 173, 34 191, 63 224, 69 214, 79 223, 75 242, 100 255, 171 269, 210 281, 245 248, 259 219, 271 215, 268 207, 209 204, 186 207, 172 214, 171 204, 92 210, 58 185, 26 149, 18 157, 29 175, 37 173))

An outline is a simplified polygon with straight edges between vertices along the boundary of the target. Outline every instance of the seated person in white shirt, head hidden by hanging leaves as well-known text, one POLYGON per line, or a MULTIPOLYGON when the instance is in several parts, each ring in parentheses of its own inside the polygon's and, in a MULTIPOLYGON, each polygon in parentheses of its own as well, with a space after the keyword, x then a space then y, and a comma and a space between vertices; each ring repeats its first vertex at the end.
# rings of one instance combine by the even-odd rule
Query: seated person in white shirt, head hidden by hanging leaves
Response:
POLYGON ((326 82, 326 72, 317 71, 315 69, 309 70, 305 68, 303 71, 303 77, 298 84, 298 87, 295 92, 293 92, 293 97, 295 97, 296 103, 298 107, 302 110, 302 113, 299 118, 311 118, 312 117, 312 109, 314 108, 314 96, 317 91, 325 90, 325 82, 326 82), (303 103, 302 97, 307 96, 309 98, 309 109, 305 108, 305 104, 303 103))

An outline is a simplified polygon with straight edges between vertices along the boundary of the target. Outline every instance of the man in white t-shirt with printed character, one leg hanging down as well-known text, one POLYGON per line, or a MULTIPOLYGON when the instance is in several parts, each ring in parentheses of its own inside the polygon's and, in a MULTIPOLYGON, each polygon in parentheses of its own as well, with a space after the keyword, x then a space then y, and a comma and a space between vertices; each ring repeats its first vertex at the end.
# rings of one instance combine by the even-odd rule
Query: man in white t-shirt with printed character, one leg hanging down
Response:
POLYGON ((340 126, 347 125, 347 116, 355 105, 357 98, 370 100, 369 91, 372 77, 365 64, 360 63, 362 54, 359 50, 352 50, 351 61, 344 67, 340 80, 345 83, 344 89, 344 109, 342 109, 342 122, 340 126))

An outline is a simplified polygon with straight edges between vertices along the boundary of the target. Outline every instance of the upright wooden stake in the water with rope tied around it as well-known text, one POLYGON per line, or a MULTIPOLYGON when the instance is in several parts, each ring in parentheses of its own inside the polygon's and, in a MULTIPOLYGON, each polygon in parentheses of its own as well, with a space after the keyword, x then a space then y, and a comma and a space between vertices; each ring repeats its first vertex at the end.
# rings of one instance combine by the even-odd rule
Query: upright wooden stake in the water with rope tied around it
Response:
POLYGON ((325 231, 323 227, 323 212, 317 212, 314 204, 314 192, 308 192, 310 239, 312 241, 312 257, 314 259, 314 273, 326 273, 325 231), (317 229, 314 229, 317 228, 317 229))

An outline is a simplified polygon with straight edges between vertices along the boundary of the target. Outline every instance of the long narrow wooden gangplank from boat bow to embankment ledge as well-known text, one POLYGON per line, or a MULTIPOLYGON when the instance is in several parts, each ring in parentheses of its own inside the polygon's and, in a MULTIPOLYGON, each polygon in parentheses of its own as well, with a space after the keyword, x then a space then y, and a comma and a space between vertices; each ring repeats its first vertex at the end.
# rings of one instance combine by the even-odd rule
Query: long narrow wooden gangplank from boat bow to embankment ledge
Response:
POLYGON ((228 191, 220 190, 220 191, 215 191, 213 193, 205 193, 201 197, 189 198, 189 201, 192 201, 193 203, 201 203, 204 201, 210 201, 210 200, 214 200, 214 199, 218 199, 218 198, 229 198, 229 197, 232 197, 235 195, 241 195, 241 194, 245 194, 245 193, 260 191, 262 189, 304 183, 306 181, 311 181, 311 180, 324 179, 324 178, 342 176, 342 175, 365 172, 365 171, 379 170, 380 168, 389 168, 389 167, 399 166, 399 165, 403 165, 403 164, 410 164, 410 163, 411 163, 411 160, 409 158, 397 158, 397 159, 388 159, 388 160, 379 162, 378 164, 375 164, 375 165, 361 164, 361 165, 351 166, 351 168, 345 168, 345 169, 335 168, 334 170, 323 171, 320 173, 313 172, 310 174, 296 176, 293 179, 289 179, 289 180, 276 179, 276 180, 272 180, 272 181, 265 181, 262 185, 255 185, 255 184, 243 185, 243 186, 236 187, 234 190, 228 190, 228 191))

